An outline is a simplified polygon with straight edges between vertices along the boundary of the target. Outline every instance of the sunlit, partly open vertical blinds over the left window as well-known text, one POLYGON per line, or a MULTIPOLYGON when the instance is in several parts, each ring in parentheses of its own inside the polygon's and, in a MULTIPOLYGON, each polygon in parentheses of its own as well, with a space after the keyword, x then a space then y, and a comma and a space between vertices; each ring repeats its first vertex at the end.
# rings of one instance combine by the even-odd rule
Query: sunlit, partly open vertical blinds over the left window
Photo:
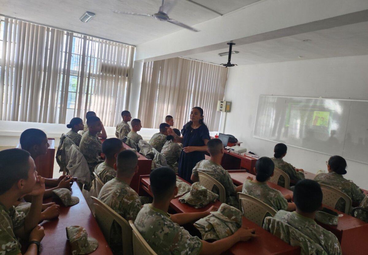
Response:
POLYGON ((66 123, 89 110, 115 126, 128 105, 134 47, 3 18, 0 120, 66 123))

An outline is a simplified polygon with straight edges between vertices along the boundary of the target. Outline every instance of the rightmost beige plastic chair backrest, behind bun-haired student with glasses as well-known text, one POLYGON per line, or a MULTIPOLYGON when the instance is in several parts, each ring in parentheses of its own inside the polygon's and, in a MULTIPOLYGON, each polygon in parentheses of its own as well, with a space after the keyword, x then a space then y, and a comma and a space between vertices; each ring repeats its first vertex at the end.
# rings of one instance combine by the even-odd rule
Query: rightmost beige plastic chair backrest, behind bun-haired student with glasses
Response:
POLYGON ((319 183, 323 193, 322 203, 329 207, 335 208, 337 201, 342 198, 345 201, 345 213, 350 214, 351 210, 351 198, 344 192, 335 189, 334 187, 319 183))

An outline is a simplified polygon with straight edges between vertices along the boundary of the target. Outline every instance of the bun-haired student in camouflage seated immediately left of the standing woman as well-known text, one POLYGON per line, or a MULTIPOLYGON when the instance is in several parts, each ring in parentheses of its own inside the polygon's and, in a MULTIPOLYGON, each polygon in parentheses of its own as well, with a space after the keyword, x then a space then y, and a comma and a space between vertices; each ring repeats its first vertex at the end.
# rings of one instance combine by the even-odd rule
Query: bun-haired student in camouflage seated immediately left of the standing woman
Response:
MULTIPOLYGON (((177 136, 181 136, 180 130, 173 128, 177 136)), ((166 158, 166 163, 176 173, 178 172, 178 161, 183 148, 178 141, 172 135, 166 136, 167 142, 164 144, 161 150, 161 154, 166 158)))

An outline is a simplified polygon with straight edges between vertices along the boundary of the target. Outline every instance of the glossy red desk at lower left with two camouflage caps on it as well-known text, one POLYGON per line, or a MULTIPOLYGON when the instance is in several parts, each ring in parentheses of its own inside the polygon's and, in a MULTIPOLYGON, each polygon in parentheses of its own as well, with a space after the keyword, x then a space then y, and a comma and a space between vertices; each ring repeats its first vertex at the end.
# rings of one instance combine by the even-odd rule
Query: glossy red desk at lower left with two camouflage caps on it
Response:
MULTIPOLYGON (((66 227, 78 225, 86 229, 88 236, 96 238, 98 248, 92 252, 93 255, 112 255, 112 251, 107 244, 105 237, 98 226, 95 217, 79 189, 77 182, 71 187, 72 196, 79 197, 79 203, 71 207, 64 207, 57 198, 47 198, 43 203, 56 202, 60 205, 59 219, 43 221, 41 225, 45 229, 45 237, 41 241, 42 255, 71 255, 69 241, 67 240, 66 227)), ((22 245, 25 249, 26 245, 22 245)))

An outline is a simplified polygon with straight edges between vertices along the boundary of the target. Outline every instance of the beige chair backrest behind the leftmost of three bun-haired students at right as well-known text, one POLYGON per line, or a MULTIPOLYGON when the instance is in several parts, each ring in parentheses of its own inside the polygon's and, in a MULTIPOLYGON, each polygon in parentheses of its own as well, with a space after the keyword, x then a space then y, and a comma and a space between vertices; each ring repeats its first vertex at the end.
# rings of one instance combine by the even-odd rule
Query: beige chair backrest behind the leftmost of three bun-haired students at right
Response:
POLYGON ((255 197, 238 192, 239 203, 245 218, 262 227, 266 216, 275 216, 276 210, 255 197))

